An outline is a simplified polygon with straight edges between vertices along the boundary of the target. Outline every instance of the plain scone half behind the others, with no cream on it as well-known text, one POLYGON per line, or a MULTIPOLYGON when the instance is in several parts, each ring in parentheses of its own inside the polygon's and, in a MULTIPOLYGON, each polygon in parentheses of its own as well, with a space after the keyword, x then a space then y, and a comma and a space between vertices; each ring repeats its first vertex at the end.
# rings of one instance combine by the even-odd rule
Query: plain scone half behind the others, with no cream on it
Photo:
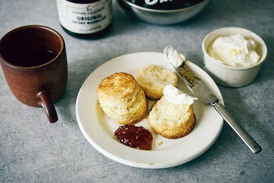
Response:
POLYGON ((163 95, 164 86, 173 84, 177 86, 177 75, 160 66, 148 64, 138 71, 137 82, 149 99, 160 99, 163 95))

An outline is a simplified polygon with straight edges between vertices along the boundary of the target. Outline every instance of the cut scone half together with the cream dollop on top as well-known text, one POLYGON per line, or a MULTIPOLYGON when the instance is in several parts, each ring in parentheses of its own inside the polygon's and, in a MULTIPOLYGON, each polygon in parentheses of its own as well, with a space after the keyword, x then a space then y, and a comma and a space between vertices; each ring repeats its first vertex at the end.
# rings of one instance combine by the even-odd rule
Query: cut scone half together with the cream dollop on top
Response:
POLYGON ((196 99, 182 93, 172 84, 166 85, 164 96, 153 104, 149 112, 149 125, 166 138, 186 136, 195 126, 192 103, 196 99))

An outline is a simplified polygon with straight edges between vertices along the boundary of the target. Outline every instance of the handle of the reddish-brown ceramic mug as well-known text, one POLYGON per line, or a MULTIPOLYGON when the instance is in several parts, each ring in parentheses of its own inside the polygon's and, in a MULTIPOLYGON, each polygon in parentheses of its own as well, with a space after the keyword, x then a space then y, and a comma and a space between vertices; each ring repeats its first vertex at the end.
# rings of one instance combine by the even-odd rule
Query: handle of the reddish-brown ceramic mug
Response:
POLYGON ((53 106, 51 99, 49 98, 47 90, 42 90, 40 93, 37 94, 37 97, 41 99, 39 105, 42 106, 42 108, 44 109, 47 115, 47 119, 49 119, 49 122, 55 123, 56 121, 58 121, 57 112, 55 110, 55 107, 53 106))

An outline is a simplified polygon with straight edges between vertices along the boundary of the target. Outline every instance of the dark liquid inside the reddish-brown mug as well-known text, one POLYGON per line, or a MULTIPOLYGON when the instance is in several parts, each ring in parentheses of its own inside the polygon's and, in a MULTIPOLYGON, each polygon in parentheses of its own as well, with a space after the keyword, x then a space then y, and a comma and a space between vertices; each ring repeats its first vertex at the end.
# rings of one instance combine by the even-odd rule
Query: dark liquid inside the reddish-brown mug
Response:
POLYGON ((35 49, 27 51, 16 57, 13 64, 15 64, 16 66, 25 67, 39 66, 53 60, 55 56, 56 54, 48 49, 35 49))

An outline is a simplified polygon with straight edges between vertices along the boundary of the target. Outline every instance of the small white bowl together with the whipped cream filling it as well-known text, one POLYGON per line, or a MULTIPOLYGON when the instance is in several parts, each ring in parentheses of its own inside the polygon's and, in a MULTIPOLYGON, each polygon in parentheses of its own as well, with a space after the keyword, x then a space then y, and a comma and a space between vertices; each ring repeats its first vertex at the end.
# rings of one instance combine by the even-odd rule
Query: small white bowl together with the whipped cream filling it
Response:
POLYGON ((202 43, 203 69, 223 86, 240 87, 256 79, 266 59, 264 40, 240 27, 210 32, 202 43))

